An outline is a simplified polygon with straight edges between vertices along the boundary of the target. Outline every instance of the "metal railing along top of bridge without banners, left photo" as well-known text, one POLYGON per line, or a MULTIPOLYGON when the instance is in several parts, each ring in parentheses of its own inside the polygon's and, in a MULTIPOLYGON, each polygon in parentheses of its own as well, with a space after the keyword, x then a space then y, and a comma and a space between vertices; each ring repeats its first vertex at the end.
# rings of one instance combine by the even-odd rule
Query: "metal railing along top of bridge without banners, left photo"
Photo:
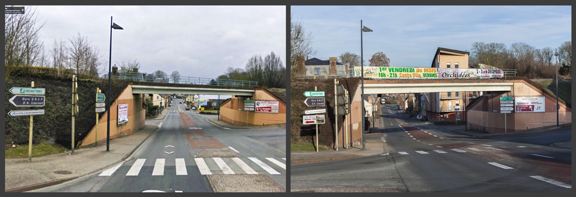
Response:
POLYGON ((243 81, 234 79, 218 79, 203 77, 172 77, 171 75, 157 76, 147 73, 122 72, 118 75, 112 75, 112 78, 129 81, 154 82, 164 84, 194 84, 194 85, 215 85, 215 86, 234 86, 234 87, 253 87, 257 86, 257 81, 243 81))

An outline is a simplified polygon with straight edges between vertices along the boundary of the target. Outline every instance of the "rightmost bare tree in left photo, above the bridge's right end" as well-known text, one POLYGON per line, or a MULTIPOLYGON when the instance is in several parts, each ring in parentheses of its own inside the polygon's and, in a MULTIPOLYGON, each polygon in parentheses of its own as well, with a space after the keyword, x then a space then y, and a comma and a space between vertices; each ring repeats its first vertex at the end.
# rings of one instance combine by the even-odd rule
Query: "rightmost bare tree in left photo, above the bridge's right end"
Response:
POLYGON ((284 78, 286 69, 282 64, 280 56, 270 52, 264 57, 263 84, 270 88, 285 88, 284 78))

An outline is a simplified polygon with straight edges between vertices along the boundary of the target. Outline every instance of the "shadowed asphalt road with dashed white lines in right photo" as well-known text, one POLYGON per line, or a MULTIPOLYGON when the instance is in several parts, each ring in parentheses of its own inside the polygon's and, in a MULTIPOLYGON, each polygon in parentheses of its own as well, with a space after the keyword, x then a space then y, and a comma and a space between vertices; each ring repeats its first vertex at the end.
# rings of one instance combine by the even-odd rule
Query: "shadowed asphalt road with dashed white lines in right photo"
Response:
POLYGON ((291 191, 570 192, 570 130, 468 137, 384 105, 389 154, 291 165, 291 191), (566 188, 569 187, 569 188, 566 188))

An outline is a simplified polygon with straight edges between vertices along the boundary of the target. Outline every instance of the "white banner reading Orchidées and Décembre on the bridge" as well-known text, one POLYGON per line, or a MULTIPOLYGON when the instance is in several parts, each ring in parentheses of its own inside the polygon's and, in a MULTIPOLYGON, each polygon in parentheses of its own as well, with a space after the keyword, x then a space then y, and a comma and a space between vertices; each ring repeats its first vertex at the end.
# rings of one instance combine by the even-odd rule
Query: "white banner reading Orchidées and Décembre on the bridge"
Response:
POLYGON ((438 68, 438 78, 502 78, 502 70, 438 68))

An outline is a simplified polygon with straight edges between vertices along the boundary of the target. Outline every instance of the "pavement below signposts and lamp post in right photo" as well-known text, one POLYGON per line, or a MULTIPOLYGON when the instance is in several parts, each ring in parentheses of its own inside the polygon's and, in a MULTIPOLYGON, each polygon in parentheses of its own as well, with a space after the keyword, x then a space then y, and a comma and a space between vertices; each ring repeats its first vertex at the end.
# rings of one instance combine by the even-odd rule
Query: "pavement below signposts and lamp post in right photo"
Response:
POLYGON ((362 145, 348 147, 342 146, 336 150, 321 151, 290 151, 290 164, 304 164, 309 162, 344 160, 348 158, 368 157, 388 153, 385 142, 382 142, 382 134, 366 134, 366 150, 362 150, 362 145))

